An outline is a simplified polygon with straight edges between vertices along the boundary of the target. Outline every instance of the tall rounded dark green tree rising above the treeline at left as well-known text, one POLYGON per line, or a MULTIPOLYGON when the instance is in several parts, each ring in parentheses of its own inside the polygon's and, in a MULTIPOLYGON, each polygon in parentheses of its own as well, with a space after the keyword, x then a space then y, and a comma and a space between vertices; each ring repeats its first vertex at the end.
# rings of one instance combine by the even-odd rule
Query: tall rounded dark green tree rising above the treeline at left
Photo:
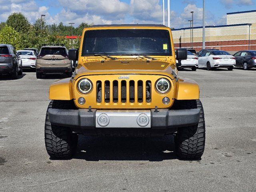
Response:
POLYGON ((6 20, 6 24, 20 33, 26 33, 30 29, 30 23, 22 13, 11 14, 6 20))

